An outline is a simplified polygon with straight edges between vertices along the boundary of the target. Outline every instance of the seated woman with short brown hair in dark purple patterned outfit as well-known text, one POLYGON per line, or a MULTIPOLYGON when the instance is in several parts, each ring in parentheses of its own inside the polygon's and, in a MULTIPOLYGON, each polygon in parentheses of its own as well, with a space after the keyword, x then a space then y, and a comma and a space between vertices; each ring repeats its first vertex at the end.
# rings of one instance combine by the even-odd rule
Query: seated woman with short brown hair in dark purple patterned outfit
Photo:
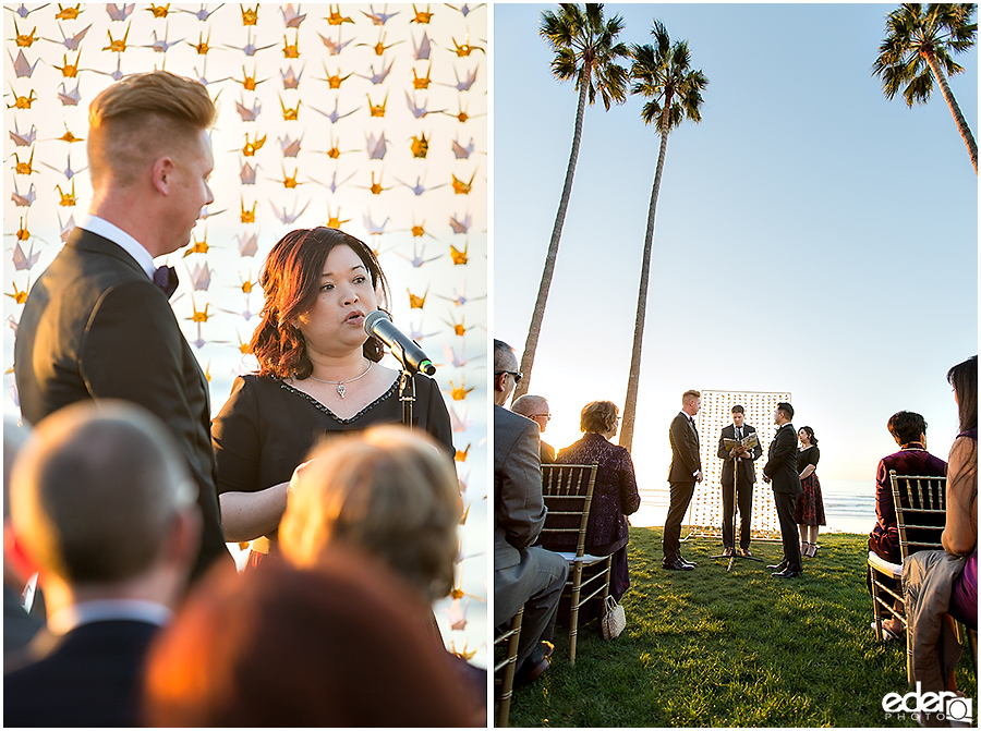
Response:
MULTIPOLYGON (((633 460, 623 447, 610 443, 620 424, 619 410, 611 401, 593 401, 582 407, 579 428, 582 439, 559 450, 558 464, 592 464, 597 462, 593 503, 586 526, 585 550, 593 556, 613 556, 609 593, 617 600, 630 586, 627 565, 629 540, 627 515, 640 508, 640 492, 633 474, 633 460)), ((550 536, 543 537, 545 548, 555 551, 576 550, 576 546, 558 545, 550 536)), ((586 605, 582 621, 598 614, 600 602, 586 605)))

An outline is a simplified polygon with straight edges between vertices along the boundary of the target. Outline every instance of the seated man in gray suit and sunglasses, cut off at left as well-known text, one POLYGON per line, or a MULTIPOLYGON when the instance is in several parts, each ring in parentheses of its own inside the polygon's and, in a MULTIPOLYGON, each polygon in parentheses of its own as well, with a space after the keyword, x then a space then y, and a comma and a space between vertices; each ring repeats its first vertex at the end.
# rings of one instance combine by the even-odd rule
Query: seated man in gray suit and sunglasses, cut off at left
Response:
POLYGON ((514 352, 494 341, 494 624, 510 622, 524 606, 516 683, 548 669, 566 560, 532 546, 545 524, 538 427, 504 407, 521 379, 514 352))

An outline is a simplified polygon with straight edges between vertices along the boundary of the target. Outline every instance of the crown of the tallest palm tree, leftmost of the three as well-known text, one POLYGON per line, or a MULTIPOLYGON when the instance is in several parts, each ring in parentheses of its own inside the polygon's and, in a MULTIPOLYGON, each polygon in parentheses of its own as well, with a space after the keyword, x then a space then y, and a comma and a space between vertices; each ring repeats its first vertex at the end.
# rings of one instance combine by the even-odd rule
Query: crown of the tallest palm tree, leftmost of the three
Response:
POLYGON ((589 103, 598 92, 603 106, 622 103, 627 99, 627 70, 616 63, 629 56, 627 46, 617 42, 623 19, 614 15, 603 20, 603 3, 559 4, 560 11, 542 13, 540 35, 555 51, 552 72, 560 81, 574 80, 577 89, 586 86, 589 103))

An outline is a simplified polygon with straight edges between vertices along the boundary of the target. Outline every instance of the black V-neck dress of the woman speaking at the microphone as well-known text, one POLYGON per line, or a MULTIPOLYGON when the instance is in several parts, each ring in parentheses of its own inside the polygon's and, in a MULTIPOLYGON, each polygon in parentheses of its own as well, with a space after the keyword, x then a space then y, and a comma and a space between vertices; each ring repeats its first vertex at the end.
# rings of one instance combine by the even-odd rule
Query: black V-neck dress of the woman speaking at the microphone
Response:
MULTIPOLYGON (((336 416, 303 391, 267 376, 239 376, 211 423, 218 463, 218 494, 257 492, 287 483, 311 448, 330 435, 402 421, 399 379, 351 418, 336 416)), ((453 449, 449 413, 436 381, 415 376, 414 426, 425 429, 447 454, 453 449)), ((450 458, 451 459, 451 458, 450 458)), ((266 536, 271 541, 276 532, 266 536)))

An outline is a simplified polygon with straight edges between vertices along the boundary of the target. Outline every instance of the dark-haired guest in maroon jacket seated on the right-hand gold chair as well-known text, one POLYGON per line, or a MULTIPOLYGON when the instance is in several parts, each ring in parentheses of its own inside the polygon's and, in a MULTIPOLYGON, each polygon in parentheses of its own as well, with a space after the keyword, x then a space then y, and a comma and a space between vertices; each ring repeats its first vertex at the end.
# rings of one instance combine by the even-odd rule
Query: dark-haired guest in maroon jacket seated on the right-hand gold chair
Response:
MULTIPOLYGON (((895 470, 897 475, 943 477, 947 474, 947 463, 927 451, 927 422, 920 414, 896 412, 886 426, 899 444, 899 451, 882 458, 875 471, 875 526, 869 535, 869 550, 886 561, 899 563, 899 527, 889 471, 895 470)), ((871 582, 871 576, 867 575, 867 581, 871 582)), ((892 584, 892 580, 887 577, 882 581, 892 584)), ((894 589, 899 593, 898 584, 894 589)), ((871 592, 871 583, 869 590, 871 592)), ((897 611, 901 611, 901 601, 897 600, 895 606, 897 611)), ((888 638, 903 634, 903 624, 898 620, 883 620, 882 629, 888 638)))

